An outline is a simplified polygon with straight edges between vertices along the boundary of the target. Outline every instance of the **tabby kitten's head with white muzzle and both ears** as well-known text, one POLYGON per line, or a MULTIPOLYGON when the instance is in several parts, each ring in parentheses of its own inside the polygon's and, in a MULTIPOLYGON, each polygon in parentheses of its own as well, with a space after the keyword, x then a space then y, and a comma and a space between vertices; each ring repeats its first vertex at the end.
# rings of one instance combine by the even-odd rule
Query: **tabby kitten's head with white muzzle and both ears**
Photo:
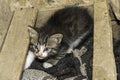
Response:
POLYGON ((38 57, 38 59, 45 59, 48 56, 57 54, 58 48, 62 41, 63 35, 60 33, 50 36, 40 35, 33 28, 28 28, 30 34, 30 42, 32 51, 38 57))

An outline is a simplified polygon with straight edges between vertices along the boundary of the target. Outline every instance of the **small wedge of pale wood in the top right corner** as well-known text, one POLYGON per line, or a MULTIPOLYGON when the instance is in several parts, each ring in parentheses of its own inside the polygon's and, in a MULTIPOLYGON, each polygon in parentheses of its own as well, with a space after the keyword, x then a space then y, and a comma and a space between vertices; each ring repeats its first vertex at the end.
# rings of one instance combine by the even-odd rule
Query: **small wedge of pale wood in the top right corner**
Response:
POLYGON ((120 20, 120 0, 111 0, 111 5, 116 17, 120 20))

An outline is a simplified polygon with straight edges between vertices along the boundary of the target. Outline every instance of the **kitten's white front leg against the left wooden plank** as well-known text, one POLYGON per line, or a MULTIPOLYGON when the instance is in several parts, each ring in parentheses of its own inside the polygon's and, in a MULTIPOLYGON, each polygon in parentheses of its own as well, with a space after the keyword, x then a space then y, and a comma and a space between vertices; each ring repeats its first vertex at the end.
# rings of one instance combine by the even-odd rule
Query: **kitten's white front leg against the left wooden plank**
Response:
POLYGON ((28 51, 28 55, 26 57, 24 70, 27 69, 31 65, 31 63, 33 62, 34 59, 35 59, 35 55, 33 54, 33 52, 28 51))

